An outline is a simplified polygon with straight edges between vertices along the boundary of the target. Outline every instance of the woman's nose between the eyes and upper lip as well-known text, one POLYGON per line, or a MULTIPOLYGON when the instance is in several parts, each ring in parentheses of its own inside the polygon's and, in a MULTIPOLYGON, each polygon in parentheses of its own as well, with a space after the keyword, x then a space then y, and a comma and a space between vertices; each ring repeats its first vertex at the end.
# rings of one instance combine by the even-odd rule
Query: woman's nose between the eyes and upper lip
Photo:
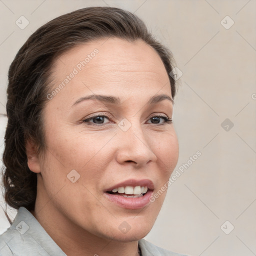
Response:
POLYGON ((150 147, 149 136, 144 134, 140 124, 133 123, 128 130, 120 129, 118 133, 116 160, 119 164, 132 162, 135 168, 140 168, 151 161, 156 161, 156 155, 150 147))

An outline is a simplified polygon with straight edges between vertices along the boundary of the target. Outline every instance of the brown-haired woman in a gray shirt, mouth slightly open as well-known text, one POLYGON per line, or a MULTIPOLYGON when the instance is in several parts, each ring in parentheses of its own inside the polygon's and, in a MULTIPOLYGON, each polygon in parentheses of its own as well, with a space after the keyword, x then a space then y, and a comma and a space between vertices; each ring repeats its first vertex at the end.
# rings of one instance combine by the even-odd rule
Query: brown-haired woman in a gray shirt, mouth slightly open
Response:
POLYGON ((178 159, 172 68, 119 8, 79 9, 28 38, 8 73, 3 182, 18 212, 0 255, 180 255, 143 239, 178 159))

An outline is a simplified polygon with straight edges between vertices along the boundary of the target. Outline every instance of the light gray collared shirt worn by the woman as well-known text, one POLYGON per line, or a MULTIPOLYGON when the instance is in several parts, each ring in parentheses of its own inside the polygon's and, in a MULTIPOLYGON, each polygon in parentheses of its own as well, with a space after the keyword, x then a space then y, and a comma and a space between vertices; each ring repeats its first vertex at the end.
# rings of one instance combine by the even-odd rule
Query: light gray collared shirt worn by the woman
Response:
MULTIPOLYGON (((142 256, 182 256, 140 239, 142 256)), ((100 253, 99 253, 100 254, 100 253)), ((0 256, 66 256, 37 219, 25 207, 19 207, 10 227, 0 235, 0 256)), ((183 255, 185 256, 185 255, 183 255)))

